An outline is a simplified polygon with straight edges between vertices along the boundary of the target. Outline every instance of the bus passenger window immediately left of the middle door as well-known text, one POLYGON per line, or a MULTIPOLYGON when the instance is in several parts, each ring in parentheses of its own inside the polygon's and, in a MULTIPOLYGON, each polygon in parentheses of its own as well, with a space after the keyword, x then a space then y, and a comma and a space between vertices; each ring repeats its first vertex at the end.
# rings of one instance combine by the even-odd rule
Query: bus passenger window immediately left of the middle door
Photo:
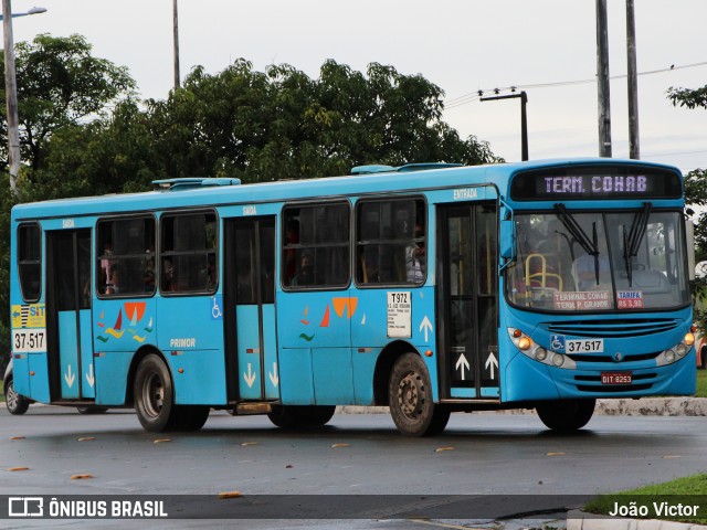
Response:
POLYGON ((213 212, 163 215, 160 290, 214 293, 218 286, 217 216, 213 212))

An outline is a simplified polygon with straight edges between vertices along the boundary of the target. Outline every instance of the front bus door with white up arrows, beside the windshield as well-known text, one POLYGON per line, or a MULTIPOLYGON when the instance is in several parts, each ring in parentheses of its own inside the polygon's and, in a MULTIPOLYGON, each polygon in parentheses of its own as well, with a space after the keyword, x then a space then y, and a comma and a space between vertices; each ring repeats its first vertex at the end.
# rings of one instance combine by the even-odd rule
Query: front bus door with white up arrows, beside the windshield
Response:
POLYGON ((444 399, 497 399, 496 204, 437 211, 440 383, 444 399))

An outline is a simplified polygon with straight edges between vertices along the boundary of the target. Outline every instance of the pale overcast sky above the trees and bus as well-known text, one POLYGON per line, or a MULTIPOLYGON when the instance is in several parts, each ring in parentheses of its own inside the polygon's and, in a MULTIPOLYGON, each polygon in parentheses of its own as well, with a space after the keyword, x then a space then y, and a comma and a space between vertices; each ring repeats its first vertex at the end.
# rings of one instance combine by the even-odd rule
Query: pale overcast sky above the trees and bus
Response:
MULTIPOLYGON (((608 4, 612 150, 627 157, 625 1, 608 4)), ((14 0, 12 10, 33 6, 48 11, 13 19, 15 43, 78 33, 95 56, 127 66, 141 97, 167 97, 172 0, 14 0)), ((707 85, 705 20, 705 0, 635 0, 641 158, 685 172, 707 168, 707 110, 674 107, 666 91, 707 85)), ((444 91, 447 124, 508 161, 521 156, 520 100, 477 92, 517 86, 530 159, 599 155, 595 0, 179 0, 179 52, 182 78, 239 57, 312 78, 328 59, 420 74, 444 91)))

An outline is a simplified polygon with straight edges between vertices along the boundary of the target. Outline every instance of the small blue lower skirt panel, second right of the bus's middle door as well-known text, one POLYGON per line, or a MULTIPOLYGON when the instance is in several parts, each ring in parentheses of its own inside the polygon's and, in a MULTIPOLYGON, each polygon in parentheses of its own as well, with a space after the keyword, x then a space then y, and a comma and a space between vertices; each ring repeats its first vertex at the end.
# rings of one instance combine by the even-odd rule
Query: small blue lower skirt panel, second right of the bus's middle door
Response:
POLYGON ((318 405, 354 403, 350 348, 313 349, 315 401, 318 405))

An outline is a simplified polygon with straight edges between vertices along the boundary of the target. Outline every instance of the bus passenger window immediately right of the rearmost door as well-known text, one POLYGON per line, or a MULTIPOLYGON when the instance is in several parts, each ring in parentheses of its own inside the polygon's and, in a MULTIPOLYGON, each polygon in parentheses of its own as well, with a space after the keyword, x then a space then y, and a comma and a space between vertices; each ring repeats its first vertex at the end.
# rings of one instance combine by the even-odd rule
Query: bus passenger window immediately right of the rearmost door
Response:
POLYGON ((98 296, 154 294, 155 219, 103 220, 96 230, 98 296))

